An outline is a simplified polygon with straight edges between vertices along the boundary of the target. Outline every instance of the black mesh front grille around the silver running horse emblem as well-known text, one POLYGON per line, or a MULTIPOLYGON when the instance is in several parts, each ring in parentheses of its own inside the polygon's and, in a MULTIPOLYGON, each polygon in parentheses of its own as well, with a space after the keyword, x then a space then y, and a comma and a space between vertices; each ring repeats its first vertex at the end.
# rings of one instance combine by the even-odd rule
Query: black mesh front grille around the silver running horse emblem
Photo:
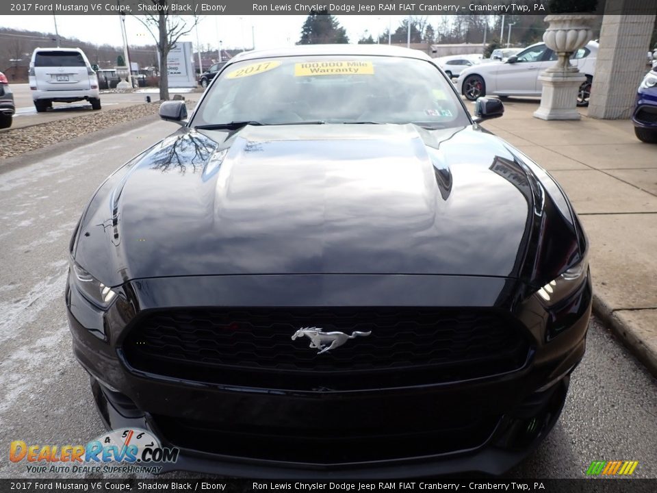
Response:
POLYGON ((156 375, 331 390, 498 375, 524 366, 530 349, 511 317, 406 307, 172 309, 139 317, 123 342, 129 366, 156 375), (318 354, 309 338, 292 340, 302 327, 361 335, 318 354))

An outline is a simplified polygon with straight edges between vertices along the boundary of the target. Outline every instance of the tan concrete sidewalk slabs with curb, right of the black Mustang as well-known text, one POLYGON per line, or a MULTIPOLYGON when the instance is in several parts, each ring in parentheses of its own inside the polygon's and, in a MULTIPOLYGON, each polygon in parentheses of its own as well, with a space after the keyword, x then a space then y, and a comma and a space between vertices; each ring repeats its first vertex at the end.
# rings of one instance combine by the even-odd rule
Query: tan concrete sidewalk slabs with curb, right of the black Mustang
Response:
MULTIPOLYGON (((468 108, 474 108, 467 103, 468 108)), ((533 118, 537 99, 504 101, 482 126, 550 171, 591 242, 593 309, 657 376, 657 145, 628 120, 533 118)))

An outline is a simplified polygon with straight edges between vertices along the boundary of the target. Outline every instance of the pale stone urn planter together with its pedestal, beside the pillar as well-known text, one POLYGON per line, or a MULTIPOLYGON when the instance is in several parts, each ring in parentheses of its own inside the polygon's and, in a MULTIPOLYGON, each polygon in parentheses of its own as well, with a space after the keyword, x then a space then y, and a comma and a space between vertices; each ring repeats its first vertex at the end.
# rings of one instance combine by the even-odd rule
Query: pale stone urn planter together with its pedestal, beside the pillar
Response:
POLYGON ((591 26, 594 15, 556 14, 545 17, 550 27, 543 34, 543 41, 552 49, 558 60, 554 66, 539 75, 543 84, 541 106, 534 112, 543 120, 579 120, 577 95, 587 79, 570 63, 571 55, 584 47, 593 37, 591 26))

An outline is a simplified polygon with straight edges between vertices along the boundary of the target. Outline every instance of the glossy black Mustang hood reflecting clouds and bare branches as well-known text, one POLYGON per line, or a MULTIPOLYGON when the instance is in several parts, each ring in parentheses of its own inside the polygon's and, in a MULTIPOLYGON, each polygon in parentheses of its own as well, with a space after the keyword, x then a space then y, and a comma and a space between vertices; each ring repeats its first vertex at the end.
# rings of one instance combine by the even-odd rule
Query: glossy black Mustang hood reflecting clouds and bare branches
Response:
POLYGON ((112 286, 194 275, 517 277, 543 215, 532 179, 476 126, 183 128, 101 186, 75 258, 112 286))

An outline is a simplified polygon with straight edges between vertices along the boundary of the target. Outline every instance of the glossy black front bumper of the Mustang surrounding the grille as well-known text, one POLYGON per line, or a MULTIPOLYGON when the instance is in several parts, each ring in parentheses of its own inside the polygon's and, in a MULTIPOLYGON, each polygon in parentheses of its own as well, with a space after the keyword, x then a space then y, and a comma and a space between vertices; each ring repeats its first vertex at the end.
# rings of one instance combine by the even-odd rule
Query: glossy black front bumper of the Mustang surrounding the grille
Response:
MULTIPOLYGON (((413 276, 370 277, 369 290, 326 294, 292 276, 286 291, 302 306, 351 303, 368 306, 398 293, 401 305, 426 305, 425 295, 444 293, 443 303, 467 294, 473 307, 504 304, 512 281, 413 276), (452 290, 445 290, 452 286, 452 290), (433 289, 432 289, 433 288, 433 289), (385 296, 383 291, 388 292, 385 296), (407 290, 408 291, 408 290, 407 290)), ((528 359, 513 372, 465 381, 335 391, 284 390, 222 385, 152 375, 129 367, 121 343, 130 320, 149 309, 181 305, 267 305, 280 279, 256 276, 149 279, 128 283, 107 312, 88 313, 67 288, 75 355, 92 376, 96 405, 107 427, 140 427, 164 446, 181 449, 166 470, 196 470, 245 477, 412 477, 479 471, 501 474, 547 435, 565 400, 569 375, 584 354, 591 285, 581 301, 568 303, 569 327, 550 342, 550 316, 530 299, 508 307, 532 338, 528 359), (194 287, 195 286, 195 287, 194 287), (229 299, 216 299, 227 296, 229 299), (241 300, 241 301, 240 301, 241 300), (573 312, 575 310, 576 313, 573 312)), ((276 278, 276 276, 274 276, 276 278)), ((333 279, 335 281, 335 279, 333 279)), ((320 281, 321 282, 321 281, 320 281)), ((461 298, 462 301, 464 300, 461 298)), ((440 303, 440 301, 439 301, 440 303)))

